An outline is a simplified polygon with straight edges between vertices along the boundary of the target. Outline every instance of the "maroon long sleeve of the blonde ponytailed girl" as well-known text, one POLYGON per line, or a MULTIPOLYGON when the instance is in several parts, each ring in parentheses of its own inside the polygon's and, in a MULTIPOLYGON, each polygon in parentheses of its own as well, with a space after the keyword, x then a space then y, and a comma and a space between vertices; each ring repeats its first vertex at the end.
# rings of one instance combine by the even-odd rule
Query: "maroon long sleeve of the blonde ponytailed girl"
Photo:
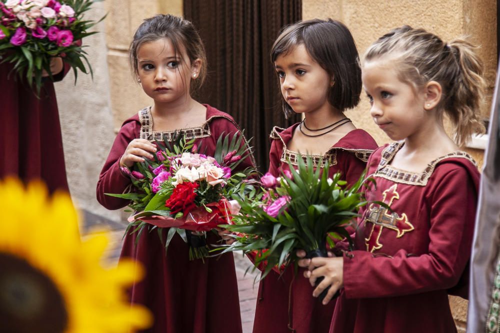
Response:
POLYGON ((404 296, 457 283, 470 257, 475 185, 464 168, 448 167, 427 197, 431 205, 427 253, 398 250, 392 257, 377 257, 366 251, 350 252, 343 262, 347 298, 404 296))

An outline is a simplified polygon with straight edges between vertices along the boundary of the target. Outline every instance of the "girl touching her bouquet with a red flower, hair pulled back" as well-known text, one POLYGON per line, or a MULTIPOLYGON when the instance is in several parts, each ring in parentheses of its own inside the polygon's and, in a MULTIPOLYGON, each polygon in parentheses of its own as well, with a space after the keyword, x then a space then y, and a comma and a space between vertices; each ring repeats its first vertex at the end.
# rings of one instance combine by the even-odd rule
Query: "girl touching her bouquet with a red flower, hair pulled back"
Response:
MULTIPOLYGON (((126 120, 102 168, 97 200, 108 209, 128 204, 106 196, 123 193, 130 178, 122 167, 152 158, 155 140, 172 141, 182 131, 195 139, 199 152, 213 155, 222 135, 241 135, 231 116, 191 97, 206 73, 203 45, 191 22, 172 15, 145 19, 130 46, 134 73, 154 104, 126 120)), ((251 166, 249 157, 239 165, 251 166)), ((152 228, 152 226, 149 226, 152 228)), ((154 333, 240 333, 241 319, 233 256, 189 260, 188 246, 175 234, 165 254, 157 230, 125 235, 120 258, 130 257, 145 268, 145 277, 130 290, 132 303, 145 305, 154 316, 154 333)), ((207 234, 208 244, 221 241, 207 234)))

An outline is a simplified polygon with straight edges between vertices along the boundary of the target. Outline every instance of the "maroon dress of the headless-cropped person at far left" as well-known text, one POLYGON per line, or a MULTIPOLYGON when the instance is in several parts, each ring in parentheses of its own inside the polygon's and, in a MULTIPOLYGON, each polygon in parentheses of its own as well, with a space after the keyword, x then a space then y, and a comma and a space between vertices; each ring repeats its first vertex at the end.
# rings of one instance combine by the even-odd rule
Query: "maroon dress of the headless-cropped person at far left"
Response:
MULTIPOLYGON (((54 85, 47 80, 38 99, 11 69, 9 63, 0 64, 0 179, 41 179, 50 192, 68 191, 54 85)), ((54 80, 68 69, 66 64, 54 80)))

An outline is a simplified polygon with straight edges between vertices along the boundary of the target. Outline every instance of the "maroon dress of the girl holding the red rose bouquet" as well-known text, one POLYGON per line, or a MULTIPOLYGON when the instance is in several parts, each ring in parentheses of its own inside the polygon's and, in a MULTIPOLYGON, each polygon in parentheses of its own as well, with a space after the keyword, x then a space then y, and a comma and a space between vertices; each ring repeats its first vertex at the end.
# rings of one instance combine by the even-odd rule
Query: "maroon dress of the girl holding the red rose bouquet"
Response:
MULTIPOLYGON (((196 138, 198 151, 213 155, 218 137, 239 131, 231 116, 206 106, 206 122, 201 127, 181 129, 186 138, 196 138)), ((153 132, 149 108, 126 120, 113 143, 97 183, 97 200, 107 209, 118 209, 126 200, 104 193, 122 193, 130 184, 119 169, 119 159, 134 138, 163 140, 173 131, 153 132)), ((250 159, 241 168, 251 165, 250 159)), ((243 165, 244 164, 244 165, 243 165)), ((131 302, 145 305, 154 315, 154 333, 238 333, 241 332, 238 287, 231 253, 220 257, 189 261, 188 247, 175 234, 165 255, 156 231, 143 232, 136 246, 135 235, 126 235, 121 258, 131 257, 146 269, 145 278, 133 285, 131 302)), ((219 237, 209 232, 208 244, 219 237)), ((163 230, 163 240, 166 231, 163 230)))

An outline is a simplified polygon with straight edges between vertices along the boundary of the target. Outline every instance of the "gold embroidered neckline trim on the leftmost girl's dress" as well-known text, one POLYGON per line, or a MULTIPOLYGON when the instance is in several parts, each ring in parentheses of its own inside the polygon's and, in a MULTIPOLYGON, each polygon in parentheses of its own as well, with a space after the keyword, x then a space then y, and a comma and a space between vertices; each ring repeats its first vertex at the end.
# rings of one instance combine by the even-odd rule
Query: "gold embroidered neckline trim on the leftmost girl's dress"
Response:
POLYGON ((153 131, 153 118, 151 117, 151 107, 149 106, 139 111, 140 138, 149 141, 173 141, 174 136, 178 135, 180 131, 184 133, 187 140, 204 138, 210 136, 209 121, 212 118, 213 117, 210 117, 203 125, 197 127, 188 127, 171 131, 153 131))

